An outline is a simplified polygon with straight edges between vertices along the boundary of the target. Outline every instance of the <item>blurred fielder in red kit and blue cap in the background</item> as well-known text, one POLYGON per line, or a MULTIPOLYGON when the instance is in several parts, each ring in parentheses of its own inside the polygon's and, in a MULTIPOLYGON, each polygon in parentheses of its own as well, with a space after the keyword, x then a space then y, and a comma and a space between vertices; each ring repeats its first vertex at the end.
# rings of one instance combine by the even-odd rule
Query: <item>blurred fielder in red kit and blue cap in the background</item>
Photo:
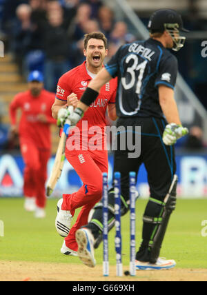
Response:
POLYGON ((10 104, 10 122, 13 133, 19 133, 21 154, 25 163, 23 193, 24 207, 34 211, 34 216, 46 216, 47 164, 50 159, 50 124, 55 94, 43 89, 43 75, 31 72, 28 77, 28 91, 14 96, 10 104), (17 110, 21 119, 17 125, 17 110))

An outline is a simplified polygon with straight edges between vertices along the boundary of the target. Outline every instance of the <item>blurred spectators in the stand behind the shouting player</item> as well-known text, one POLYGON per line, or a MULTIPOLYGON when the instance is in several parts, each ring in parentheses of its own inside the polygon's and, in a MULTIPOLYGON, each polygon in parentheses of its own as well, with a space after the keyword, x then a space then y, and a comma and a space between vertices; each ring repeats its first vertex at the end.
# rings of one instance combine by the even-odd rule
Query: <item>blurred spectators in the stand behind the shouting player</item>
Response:
POLYGON ((116 21, 101 0, 0 0, 1 32, 26 77, 30 70, 45 73, 46 89, 55 92, 57 80, 83 59, 83 37, 101 31, 109 56, 135 37, 126 23, 116 21))

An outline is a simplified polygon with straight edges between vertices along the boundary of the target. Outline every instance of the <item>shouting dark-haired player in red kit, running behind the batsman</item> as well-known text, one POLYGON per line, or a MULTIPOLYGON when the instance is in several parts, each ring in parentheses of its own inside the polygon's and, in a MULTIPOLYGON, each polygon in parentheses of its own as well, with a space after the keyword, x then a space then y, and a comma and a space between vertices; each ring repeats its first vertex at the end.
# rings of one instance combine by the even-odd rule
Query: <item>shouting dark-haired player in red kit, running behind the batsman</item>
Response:
MULTIPOLYGON (((103 60, 108 54, 107 39, 101 32, 86 34, 83 54, 86 61, 64 74, 57 85, 57 96, 52 106, 52 115, 63 127, 68 116, 67 107, 77 107, 83 92, 92 79, 103 68, 103 60)), ((117 119, 115 97, 117 79, 103 85, 96 101, 90 105, 74 130, 70 131, 66 143, 66 158, 74 167, 83 186, 74 194, 63 194, 57 203, 57 232, 66 237, 61 248, 62 254, 77 255, 75 232, 88 223, 88 214, 100 201, 102 194, 102 173, 108 172, 108 152, 104 149, 106 140, 106 109, 110 119, 117 119), (72 142, 72 139, 74 141, 72 142), (94 139, 96 139, 94 141, 94 139), (74 144, 75 143, 75 144, 74 144), (82 207, 75 225, 70 229, 75 210, 82 207)))

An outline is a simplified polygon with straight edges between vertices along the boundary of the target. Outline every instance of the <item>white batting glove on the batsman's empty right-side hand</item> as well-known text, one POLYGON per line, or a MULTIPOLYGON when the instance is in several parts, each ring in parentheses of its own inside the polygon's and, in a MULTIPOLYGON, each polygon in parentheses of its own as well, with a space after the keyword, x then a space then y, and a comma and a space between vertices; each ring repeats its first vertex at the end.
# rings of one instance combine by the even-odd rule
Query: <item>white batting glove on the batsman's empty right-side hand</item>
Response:
POLYGON ((182 125, 177 125, 175 123, 170 123, 166 125, 162 140, 165 145, 173 145, 176 143, 177 139, 180 139, 186 134, 188 134, 188 128, 185 128, 182 125))

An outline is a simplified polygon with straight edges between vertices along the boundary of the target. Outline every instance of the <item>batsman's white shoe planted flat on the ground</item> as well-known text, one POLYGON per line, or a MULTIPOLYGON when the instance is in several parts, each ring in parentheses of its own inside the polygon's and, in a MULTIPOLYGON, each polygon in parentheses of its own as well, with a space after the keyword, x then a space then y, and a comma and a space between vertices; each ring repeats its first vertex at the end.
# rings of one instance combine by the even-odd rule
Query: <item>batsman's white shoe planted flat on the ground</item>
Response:
POLYGON ((174 260, 166 260, 165 258, 158 258, 157 263, 149 263, 136 261, 137 270, 164 270, 175 267, 176 263, 174 260))

